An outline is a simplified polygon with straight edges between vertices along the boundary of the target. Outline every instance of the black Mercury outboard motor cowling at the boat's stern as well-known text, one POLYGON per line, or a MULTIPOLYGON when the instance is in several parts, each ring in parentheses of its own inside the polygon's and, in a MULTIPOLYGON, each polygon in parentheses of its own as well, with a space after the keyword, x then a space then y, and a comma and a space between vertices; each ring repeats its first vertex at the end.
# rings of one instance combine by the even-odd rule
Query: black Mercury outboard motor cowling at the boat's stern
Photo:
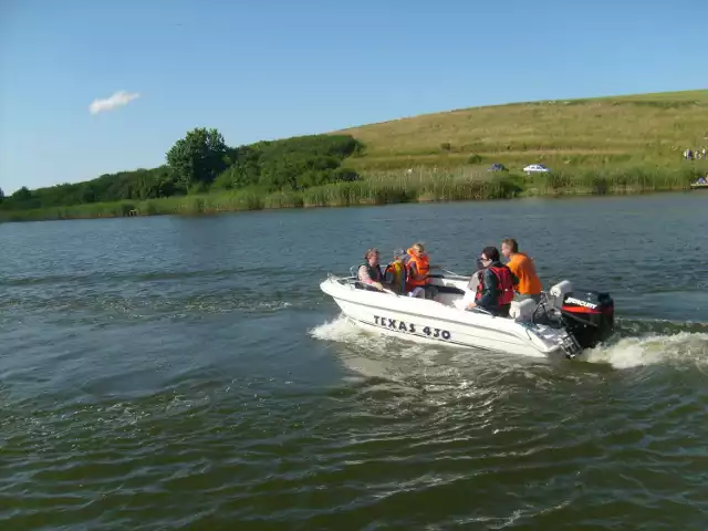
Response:
POLYGON ((563 295, 561 315, 581 348, 594 348, 614 331, 615 303, 610 293, 572 291, 563 295))

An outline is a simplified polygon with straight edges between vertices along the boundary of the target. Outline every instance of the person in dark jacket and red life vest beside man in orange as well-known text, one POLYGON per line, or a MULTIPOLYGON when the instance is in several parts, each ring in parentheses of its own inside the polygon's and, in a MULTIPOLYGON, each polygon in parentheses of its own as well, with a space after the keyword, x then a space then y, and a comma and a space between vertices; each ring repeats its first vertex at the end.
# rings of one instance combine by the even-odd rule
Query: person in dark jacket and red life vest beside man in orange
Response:
POLYGON ((499 250, 496 247, 486 247, 479 260, 485 269, 478 272, 481 277, 475 302, 470 302, 467 309, 479 308, 492 315, 508 317, 514 298, 513 288, 519 279, 499 261, 499 250))

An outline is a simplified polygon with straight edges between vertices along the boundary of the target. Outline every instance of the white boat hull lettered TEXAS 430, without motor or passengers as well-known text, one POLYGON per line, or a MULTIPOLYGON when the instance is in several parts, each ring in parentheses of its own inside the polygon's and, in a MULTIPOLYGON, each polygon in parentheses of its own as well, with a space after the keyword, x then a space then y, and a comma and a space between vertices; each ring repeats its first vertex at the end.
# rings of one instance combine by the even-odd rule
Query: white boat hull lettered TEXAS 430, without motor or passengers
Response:
MULTIPOLYGON (((465 289, 466 280, 440 285, 465 289)), ((320 284, 355 324, 421 343, 445 343, 527 356, 565 357, 568 334, 537 325, 456 308, 461 294, 441 302, 356 288, 354 279, 329 278, 320 284)))

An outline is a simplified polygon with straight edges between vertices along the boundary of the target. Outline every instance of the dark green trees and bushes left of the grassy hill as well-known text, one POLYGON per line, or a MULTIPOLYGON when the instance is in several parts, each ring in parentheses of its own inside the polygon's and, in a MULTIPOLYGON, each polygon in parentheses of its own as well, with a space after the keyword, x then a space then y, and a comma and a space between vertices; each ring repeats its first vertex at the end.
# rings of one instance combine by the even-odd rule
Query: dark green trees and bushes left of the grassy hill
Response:
POLYGON ((363 148, 350 135, 310 135, 233 148, 226 145, 217 129, 197 127, 170 147, 163 166, 34 190, 22 187, 8 197, 0 190, 0 209, 145 200, 243 188, 263 192, 302 190, 358 179, 342 164, 363 148))

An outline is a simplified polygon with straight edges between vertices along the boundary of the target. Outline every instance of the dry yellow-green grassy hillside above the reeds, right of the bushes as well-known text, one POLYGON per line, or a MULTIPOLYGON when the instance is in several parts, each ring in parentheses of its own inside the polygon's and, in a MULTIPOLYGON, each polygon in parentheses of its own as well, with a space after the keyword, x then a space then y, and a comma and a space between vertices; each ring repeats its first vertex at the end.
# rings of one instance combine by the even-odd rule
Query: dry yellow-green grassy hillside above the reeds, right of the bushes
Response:
POLYGON ((366 144, 360 170, 542 163, 589 166, 673 166, 683 153, 708 147, 708 90, 475 107, 337 132, 366 144))

